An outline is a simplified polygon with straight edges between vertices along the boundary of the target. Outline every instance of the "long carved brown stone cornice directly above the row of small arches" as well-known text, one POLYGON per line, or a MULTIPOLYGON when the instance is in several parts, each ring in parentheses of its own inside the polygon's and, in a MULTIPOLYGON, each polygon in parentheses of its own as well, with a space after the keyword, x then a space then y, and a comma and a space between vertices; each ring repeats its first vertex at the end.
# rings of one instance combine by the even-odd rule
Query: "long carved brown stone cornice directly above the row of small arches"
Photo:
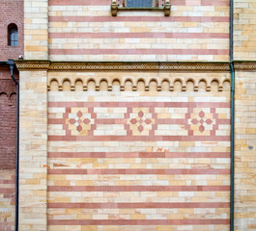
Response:
POLYGON ((165 62, 50 62, 15 61, 19 70, 173 70, 173 71, 229 71, 229 63, 165 63, 165 62))

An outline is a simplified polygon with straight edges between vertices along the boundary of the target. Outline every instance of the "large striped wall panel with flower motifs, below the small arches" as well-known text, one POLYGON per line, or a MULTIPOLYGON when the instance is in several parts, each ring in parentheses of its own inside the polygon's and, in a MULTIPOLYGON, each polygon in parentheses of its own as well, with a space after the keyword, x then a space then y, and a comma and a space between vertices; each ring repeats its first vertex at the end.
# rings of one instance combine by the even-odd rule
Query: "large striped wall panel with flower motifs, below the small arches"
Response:
POLYGON ((206 95, 49 91, 48 230, 229 230, 230 104, 206 95))

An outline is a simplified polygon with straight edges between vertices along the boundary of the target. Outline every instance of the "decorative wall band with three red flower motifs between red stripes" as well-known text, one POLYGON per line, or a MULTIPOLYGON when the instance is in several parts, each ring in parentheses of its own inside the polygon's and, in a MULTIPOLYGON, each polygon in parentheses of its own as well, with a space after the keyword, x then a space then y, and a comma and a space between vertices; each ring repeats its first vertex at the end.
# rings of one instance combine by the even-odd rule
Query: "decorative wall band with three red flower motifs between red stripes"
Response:
POLYGON ((229 103, 193 102, 49 102, 49 108, 65 108, 62 116, 48 118, 48 124, 60 124, 63 135, 48 136, 48 141, 229 141, 218 136, 219 125, 228 125, 217 108, 228 109, 229 103), (207 107, 207 108, 205 108, 207 107), (100 111, 112 108, 118 116, 101 118, 100 111), (171 110, 183 109, 180 117, 171 117, 171 110), (165 112, 165 113, 163 113, 165 112), (168 118, 162 118, 169 115, 168 118), (102 124, 103 127, 98 126, 102 124), (161 125, 165 125, 164 130, 161 125), (170 132, 180 125, 179 132, 170 132), (105 125, 115 126, 117 134, 105 133, 105 125), (163 129, 163 130, 162 130, 163 129), (188 136, 187 136, 188 135, 188 136))

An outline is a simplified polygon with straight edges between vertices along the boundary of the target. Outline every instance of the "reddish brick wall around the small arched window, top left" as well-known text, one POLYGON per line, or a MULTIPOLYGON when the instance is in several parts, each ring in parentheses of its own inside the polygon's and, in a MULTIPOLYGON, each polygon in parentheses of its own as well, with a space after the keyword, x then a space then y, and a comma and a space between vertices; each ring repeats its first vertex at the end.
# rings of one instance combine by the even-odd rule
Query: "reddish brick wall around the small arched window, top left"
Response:
POLYGON ((0 61, 17 59, 24 53, 23 0, 2 0, 0 4, 0 61), (8 45, 8 25, 15 23, 18 29, 18 46, 8 45))

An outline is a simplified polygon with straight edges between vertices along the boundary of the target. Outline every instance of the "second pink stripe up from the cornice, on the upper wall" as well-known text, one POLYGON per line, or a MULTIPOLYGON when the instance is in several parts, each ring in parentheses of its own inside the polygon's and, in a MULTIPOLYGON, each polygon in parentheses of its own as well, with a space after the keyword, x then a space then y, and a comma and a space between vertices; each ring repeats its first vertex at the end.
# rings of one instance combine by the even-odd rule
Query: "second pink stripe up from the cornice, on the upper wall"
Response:
POLYGON ((229 39, 229 33, 49 33, 49 39, 229 39))

